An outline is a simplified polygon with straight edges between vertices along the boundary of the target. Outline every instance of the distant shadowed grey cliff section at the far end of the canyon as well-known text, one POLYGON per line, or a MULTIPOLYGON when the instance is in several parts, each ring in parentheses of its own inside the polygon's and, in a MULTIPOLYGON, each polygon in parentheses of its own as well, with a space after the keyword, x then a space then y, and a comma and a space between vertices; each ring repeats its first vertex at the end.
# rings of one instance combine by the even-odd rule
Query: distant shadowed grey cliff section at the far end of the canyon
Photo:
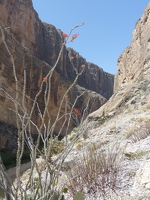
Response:
MULTIPOLYGON (((73 63, 78 70, 81 70, 81 65, 85 64, 86 66, 85 71, 78 79, 78 84, 109 99, 113 91, 114 76, 104 72, 103 69, 99 68, 97 65, 86 62, 86 60, 73 49, 68 48, 67 50, 68 55, 73 55, 75 57, 73 63)), ((69 80, 74 80, 76 74, 68 59, 66 68, 69 80)))

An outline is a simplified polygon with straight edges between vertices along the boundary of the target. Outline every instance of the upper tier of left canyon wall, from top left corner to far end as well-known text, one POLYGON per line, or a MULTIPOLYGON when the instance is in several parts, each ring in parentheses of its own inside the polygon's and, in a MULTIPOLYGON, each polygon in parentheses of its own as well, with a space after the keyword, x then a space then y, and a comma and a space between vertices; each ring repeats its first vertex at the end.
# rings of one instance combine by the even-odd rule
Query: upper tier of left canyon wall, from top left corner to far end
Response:
MULTIPOLYGON (((0 15, 0 23, 4 27, 10 27, 10 31, 13 32, 22 46, 26 47, 38 59, 53 66, 63 42, 61 31, 53 25, 40 21, 31 0, 1 1, 0 15)), ((64 78, 73 81, 75 71, 70 64, 69 52, 70 50, 64 48, 56 70, 64 78)), ((79 69, 83 63, 87 66, 86 72, 80 77, 78 84, 100 93, 107 99, 110 98, 113 93, 114 76, 92 63, 87 63, 77 52, 74 51, 73 54, 77 55, 76 68, 79 69)))

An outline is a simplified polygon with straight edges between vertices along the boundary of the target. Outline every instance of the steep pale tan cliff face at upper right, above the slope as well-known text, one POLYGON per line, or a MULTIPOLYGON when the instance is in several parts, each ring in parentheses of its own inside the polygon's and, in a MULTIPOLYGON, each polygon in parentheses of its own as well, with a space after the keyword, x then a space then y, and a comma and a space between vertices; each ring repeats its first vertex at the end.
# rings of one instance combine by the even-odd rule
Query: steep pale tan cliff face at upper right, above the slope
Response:
POLYGON ((136 23, 130 46, 118 59, 118 73, 114 90, 124 83, 134 83, 143 78, 150 79, 150 3, 136 23))

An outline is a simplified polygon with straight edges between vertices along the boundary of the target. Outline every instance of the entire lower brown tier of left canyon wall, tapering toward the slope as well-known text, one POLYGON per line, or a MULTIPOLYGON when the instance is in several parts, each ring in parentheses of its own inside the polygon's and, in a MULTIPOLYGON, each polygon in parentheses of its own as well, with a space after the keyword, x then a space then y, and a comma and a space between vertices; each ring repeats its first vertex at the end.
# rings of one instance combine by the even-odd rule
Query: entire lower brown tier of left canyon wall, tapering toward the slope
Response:
MULTIPOLYGON (((26 50, 26 48, 20 46, 20 43, 14 40, 12 35, 8 30, 1 29, 0 31, 0 127, 3 130, 3 127, 6 127, 5 131, 3 130, 2 134, 0 134, 0 149, 4 149, 7 147, 8 149, 16 147, 17 139, 17 131, 9 129, 7 131, 7 126, 4 124, 13 125, 16 127, 16 84, 15 84, 15 76, 14 76, 14 68, 16 71, 16 76, 18 80, 18 105, 19 105, 19 114, 23 117, 23 107, 25 106, 27 115, 31 111, 33 106, 33 102, 36 94, 39 92, 43 78, 47 75, 51 66, 46 62, 39 60, 37 57, 30 55, 30 53, 26 50), (3 36, 5 37, 5 42, 7 46, 4 45, 3 36), (11 56, 7 50, 9 48, 11 55, 14 58, 14 66, 12 63, 11 56), (16 56, 19 55, 19 56, 16 56), (25 84, 24 84, 25 81, 25 84), (23 88, 25 87, 25 92, 23 88), (3 123, 4 122, 4 123, 3 123), (13 137, 12 140, 12 135, 13 137), (3 144, 3 145, 2 145, 3 144)), ((62 100, 63 95, 66 90, 71 86, 71 82, 67 79, 63 78, 54 71, 52 79, 51 79, 51 94, 50 101, 48 104, 48 110, 50 111, 51 124, 54 123, 60 102, 62 100)), ((45 95, 45 87, 46 82, 44 82, 41 93, 37 98, 37 104, 39 106, 40 112, 43 114, 45 104, 44 104, 44 95, 45 95)), ((62 124, 65 120, 65 112, 67 106, 67 112, 70 111, 71 106, 78 110, 80 110, 81 114, 86 108, 86 113, 84 114, 84 118, 92 111, 98 109, 101 105, 106 102, 106 98, 101 96, 100 94, 87 90, 83 87, 78 86, 77 84, 69 91, 67 102, 64 100, 60 117, 61 120, 58 121, 54 133, 58 133, 62 129, 62 124), (74 104, 74 102, 76 103, 74 104), (67 103, 67 104, 66 104, 67 103), (63 117, 62 117, 63 116, 63 117)), ((32 114, 32 122, 34 122, 38 127, 41 124, 41 119, 39 115, 38 107, 35 107, 35 110, 32 114)), ((72 130, 72 128, 79 124, 81 116, 77 116, 76 113, 73 112, 73 117, 76 121, 70 121, 70 126, 68 128, 68 133, 72 130)), ((48 116, 45 118, 45 123, 48 122, 48 116)), ((64 125, 62 129, 61 135, 66 134, 67 123, 64 125)), ((35 127, 32 127, 32 133, 37 134, 37 130, 35 127)))

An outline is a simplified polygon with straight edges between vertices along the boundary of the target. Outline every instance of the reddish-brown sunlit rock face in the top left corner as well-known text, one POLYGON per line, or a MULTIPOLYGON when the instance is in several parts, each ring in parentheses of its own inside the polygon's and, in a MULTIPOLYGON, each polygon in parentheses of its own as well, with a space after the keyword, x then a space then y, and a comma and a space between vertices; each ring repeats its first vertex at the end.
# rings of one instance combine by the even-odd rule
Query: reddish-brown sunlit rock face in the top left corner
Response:
POLYGON ((0 23, 11 29, 20 45, 35 51, 35 27, 38 29, 41 22, 33 12, 32 0, 0 1, 0 23))

